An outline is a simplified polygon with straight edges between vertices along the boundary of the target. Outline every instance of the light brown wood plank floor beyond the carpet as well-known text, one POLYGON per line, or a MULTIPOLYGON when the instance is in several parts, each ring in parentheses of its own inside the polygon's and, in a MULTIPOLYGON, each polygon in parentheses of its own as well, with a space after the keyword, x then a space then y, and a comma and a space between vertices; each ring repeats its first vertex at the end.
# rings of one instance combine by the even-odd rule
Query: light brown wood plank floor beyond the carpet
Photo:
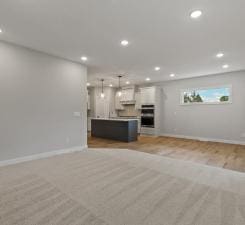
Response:
POLYGON ((124 143, 88 136, 90 148, 127 148, 245 172, 243 145, 149 136, 140 136, 137 142, 124 143))

